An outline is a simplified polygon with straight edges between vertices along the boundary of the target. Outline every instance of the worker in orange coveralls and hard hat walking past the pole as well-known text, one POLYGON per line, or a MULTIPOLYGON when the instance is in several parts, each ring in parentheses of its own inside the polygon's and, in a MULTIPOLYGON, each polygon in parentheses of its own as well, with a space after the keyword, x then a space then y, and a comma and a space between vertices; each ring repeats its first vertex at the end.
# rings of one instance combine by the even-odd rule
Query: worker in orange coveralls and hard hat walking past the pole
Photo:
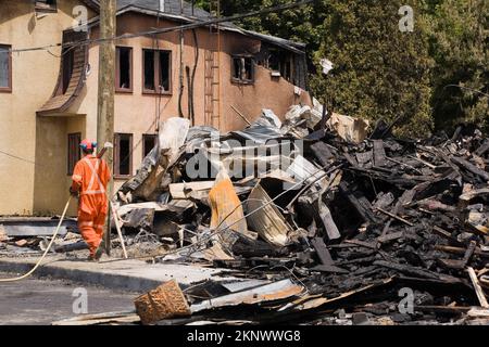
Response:
POLYGON ((99 260, 104 248, 103 226, 109 207, 105 192, 111 172, 106 163, 93 155, 96 142, 84 140, 80 147, 84 157, 75 165, 70 193, 79 194, 78 229, 90 249, 88 259, 99 260))

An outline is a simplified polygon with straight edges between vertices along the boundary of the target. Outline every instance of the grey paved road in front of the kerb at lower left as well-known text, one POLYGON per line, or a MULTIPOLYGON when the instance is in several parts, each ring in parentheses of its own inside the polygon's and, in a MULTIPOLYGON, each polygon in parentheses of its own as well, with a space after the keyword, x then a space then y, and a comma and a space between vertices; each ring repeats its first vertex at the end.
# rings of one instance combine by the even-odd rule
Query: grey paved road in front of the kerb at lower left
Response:
MULTIPOLYGON (((0 272, 0 278, 11 278, 0 272)), ((73 291, 82 285, 59 281, 27 279, 20 282, 0 283, 0 325, 51 324, 72 318, 73 303, 77 297, 73 291)), ((109 291, 85 286, 88 313, 125 311, 134 309, 134 293, 109 291)), ((79 307, 79 306, 78 306, 79 307)))

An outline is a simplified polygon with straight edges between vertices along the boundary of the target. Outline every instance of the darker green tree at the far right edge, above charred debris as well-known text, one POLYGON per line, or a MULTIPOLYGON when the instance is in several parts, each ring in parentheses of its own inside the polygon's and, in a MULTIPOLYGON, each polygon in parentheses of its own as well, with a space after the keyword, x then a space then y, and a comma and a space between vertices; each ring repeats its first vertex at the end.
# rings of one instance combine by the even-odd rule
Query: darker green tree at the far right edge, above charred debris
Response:
POLYGON ((438 0, 430 11, 437 128, 471 121, 489 130, 489 1, 438 0))

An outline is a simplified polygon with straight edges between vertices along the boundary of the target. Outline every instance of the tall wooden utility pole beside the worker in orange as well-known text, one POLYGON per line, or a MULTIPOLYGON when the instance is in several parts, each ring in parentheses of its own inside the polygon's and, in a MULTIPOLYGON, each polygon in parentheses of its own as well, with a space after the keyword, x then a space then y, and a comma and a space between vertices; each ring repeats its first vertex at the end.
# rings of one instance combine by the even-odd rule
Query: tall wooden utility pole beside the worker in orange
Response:
MULTIPOLYGON (((116 0, 100 0, 100 38, 115 36, 116 0)), ((102 145, 114 141, 114 93, 115 93, 115 42, 106 40, 100 42, 99 48, 99 94, 97 107, 97 142, 102 145)), ((105 160, 113 169, 114 152, 109 149, 105 160)), ((108 187, 108 196, 112 198, 114 182, 111 180, 108 187)), ((110 204, 109 204, 110 205, 110 204)), ((111 208, 109 206, 109 208, 111 208)), ((109 213, 108 216, 111 216, 109 213)), ((110 217, 103 227, 105 252, 110 255, 111 228, 110 217)))

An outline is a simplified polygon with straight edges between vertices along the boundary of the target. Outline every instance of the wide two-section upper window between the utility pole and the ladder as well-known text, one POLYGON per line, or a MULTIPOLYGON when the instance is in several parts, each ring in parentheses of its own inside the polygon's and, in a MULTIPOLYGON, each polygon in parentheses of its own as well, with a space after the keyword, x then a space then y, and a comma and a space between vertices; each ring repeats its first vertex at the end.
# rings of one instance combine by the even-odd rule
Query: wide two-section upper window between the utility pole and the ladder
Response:
POLYGON ((172 52, 142 50, 145 93, 171 93, 172 52))

